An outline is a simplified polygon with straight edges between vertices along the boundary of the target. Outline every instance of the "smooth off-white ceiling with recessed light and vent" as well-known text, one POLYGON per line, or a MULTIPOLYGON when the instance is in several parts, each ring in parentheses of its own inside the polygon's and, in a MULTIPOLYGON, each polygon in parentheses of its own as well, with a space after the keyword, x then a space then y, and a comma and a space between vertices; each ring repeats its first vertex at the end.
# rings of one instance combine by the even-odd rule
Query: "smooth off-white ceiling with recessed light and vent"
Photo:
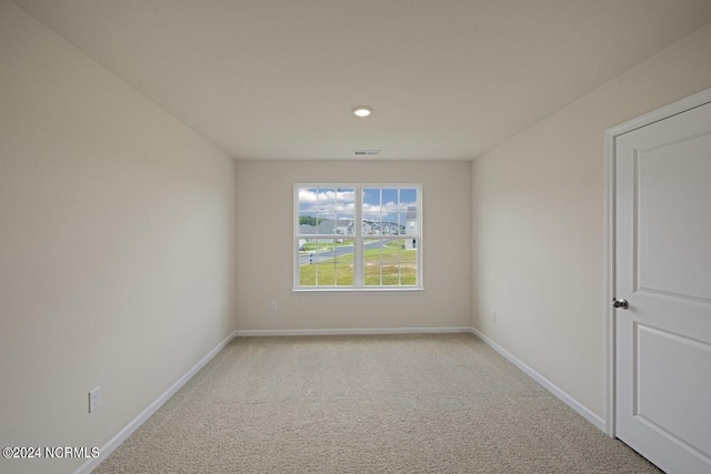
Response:
POLYGON ((13 1, 237 159, 473 159, 711 21, 711 0, 13 1))

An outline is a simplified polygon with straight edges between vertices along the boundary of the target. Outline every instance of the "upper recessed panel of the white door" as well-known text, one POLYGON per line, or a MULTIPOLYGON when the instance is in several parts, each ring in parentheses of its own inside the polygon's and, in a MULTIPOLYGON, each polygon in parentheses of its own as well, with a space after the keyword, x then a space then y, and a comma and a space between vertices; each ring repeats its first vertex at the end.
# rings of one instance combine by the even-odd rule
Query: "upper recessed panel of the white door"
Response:
POLYGON ((674 140, 634 157, 635 291, 711 302, 711 132, 674 140), (705 150, 705 153, 704 153, 705 150), (685 248, 702 252, 670 252, 685 248))

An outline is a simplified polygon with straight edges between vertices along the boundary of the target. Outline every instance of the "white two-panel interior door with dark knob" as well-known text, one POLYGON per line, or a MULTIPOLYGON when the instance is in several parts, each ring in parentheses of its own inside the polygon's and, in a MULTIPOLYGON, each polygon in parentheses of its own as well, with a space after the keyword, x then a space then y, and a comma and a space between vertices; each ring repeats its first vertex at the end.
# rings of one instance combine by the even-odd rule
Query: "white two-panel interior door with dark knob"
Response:
POLYGON ((615 299, 617 436, 711 473, 711 103, 615 139, 615 299))

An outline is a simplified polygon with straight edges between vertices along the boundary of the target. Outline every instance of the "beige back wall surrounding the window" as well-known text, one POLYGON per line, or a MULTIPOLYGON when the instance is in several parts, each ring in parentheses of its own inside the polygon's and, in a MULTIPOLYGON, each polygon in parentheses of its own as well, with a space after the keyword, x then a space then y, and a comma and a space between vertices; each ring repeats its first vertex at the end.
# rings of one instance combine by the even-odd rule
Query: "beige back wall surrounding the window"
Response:
POLYGON ((239 330, 471 324, 470 162, 238 161, 237 203, 239 330), (328 182, 422 183, 423 294, 291 293, 293 184, 328 182))

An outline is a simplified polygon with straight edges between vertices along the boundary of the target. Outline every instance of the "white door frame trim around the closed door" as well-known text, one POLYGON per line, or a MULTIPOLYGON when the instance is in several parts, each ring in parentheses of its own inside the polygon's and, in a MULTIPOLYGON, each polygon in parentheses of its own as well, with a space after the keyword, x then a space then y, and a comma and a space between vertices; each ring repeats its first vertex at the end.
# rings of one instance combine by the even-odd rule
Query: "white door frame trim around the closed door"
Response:
POLYGON ((604 132, 604 324, 605 324, 605 394, 604 394, 604 424, 605 433, 615 437, 614 423, 615 423, 615 320, 614 311, 612 310, 612 299, 615 296, 615 281, 614 281, 614 260, 615 260, 615 140, 623 133, 631 132, 632 130, 640 129, 649 125, 650 123, 659 122, 660 120, 668 119, 672 115, 685 112, 697 107, 704 105, 711 102, 711 88, 690 95, 685 99, 681 99, 669 105, 657 109, 644 115, 629 120, 619 125, 612 127, 604 132))

